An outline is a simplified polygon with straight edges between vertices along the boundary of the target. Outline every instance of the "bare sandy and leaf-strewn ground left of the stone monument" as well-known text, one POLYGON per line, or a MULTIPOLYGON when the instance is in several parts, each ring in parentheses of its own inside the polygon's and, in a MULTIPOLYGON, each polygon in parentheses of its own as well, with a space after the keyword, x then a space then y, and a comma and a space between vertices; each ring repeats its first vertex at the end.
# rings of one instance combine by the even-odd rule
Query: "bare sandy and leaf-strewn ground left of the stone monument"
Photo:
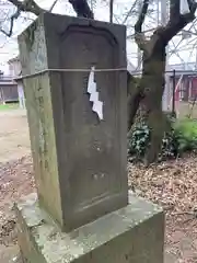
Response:
POLYGON ((0 111, 0 262, 18 254, 13 202, 33 191, 26 112, 0 111))

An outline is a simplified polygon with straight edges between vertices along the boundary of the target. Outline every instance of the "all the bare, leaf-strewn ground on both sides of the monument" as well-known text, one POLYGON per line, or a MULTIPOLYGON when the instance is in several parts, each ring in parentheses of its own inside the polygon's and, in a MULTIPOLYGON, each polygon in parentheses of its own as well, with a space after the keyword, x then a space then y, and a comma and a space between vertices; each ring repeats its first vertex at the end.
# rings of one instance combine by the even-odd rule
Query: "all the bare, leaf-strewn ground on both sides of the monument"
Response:
MULTIPOLYGON (((18 254, 13 203, 35 191, 24 111, 0 107, 0 262, 18 254)), ((197 156, 146 169, 128 164, 129 185, 166 214, 165 263, 197 262, 197 156)))

